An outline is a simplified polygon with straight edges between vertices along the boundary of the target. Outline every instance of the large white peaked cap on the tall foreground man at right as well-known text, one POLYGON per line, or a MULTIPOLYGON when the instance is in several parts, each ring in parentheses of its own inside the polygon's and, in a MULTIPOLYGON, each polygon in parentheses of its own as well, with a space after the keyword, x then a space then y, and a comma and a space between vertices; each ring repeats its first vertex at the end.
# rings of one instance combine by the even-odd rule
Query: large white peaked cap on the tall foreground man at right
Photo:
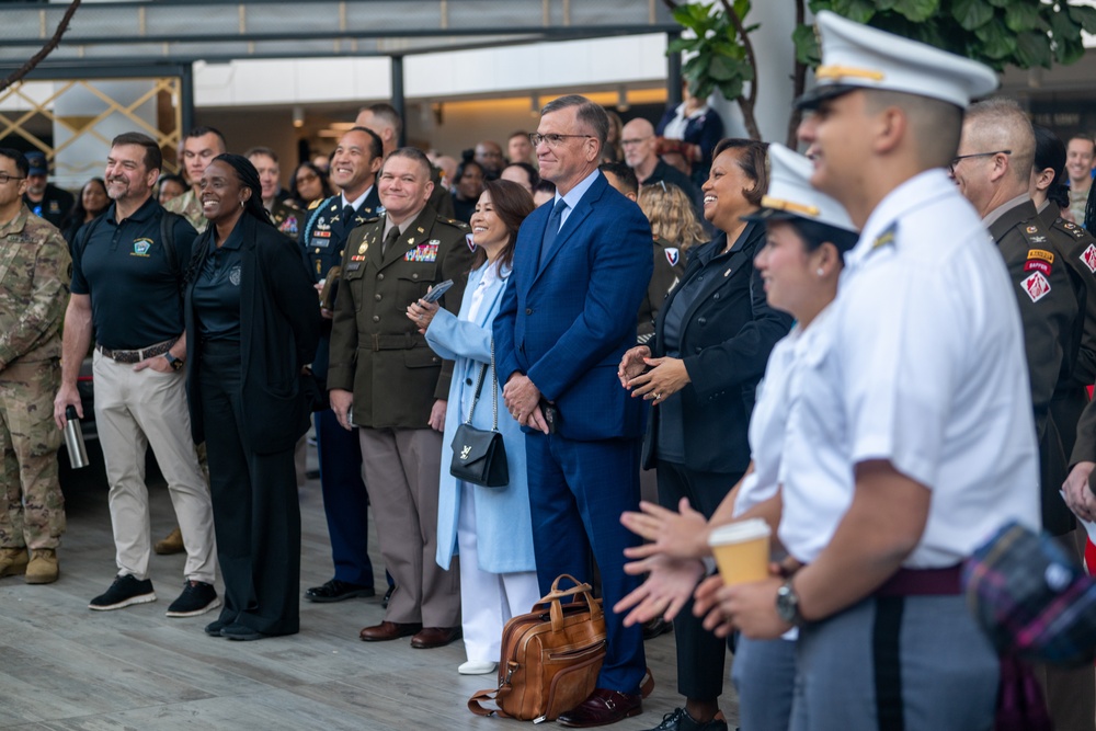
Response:
POLYGON ((818 85, 797 100, 800 108, 857 89, 900 91, 966 108, 998 84, 997 75, 983 64, 827 10, 818 14, 817 28, 822 45, 818 85))

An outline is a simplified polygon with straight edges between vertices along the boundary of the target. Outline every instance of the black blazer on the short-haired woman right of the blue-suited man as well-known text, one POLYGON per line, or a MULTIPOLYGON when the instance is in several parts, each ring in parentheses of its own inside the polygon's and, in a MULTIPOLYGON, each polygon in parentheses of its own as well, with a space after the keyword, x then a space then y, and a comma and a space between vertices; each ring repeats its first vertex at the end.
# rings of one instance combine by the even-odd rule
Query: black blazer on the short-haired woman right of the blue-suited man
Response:
MULTIPOLYGON (((727 235, 689 252, 682 282, 659 310, 654 357, 666 354, 666 312, 686 282, 708 274, 700 295, 682 323, 682 361, 692 382, 680 392, 685 429, 685 467, 699 472, 742 472, 750 465, 747 432, 754 389, 765 373, 768 355, 791 329, 791 316, 765 300, 761 274, 753 258, 765 242, 765 226, 749 224, 730 255, 713 262, 727 245, 727 235)), ((655 416, 660 407, 654 408, 655 416)), ((643 442, 643 466, 658 459, 661 420, 649 420, 643 442)))

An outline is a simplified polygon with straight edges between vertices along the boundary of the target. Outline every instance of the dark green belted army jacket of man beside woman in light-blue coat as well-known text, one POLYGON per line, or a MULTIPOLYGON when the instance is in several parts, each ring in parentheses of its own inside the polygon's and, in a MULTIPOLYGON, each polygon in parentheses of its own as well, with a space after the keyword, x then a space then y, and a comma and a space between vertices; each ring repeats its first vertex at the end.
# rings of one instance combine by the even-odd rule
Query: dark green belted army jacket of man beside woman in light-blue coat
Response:
POLYGON ((383 255, 385 224, 385 216, 369 219, 346 241, 328 388, 353 391, 358 426, 422 429, 434 400, 448 397, 452 365, 443 377, 442 358, 407 308, 432 285, 453 279, 441 304, 458 312, 472 251, 468 227, 427 205, 383 255))

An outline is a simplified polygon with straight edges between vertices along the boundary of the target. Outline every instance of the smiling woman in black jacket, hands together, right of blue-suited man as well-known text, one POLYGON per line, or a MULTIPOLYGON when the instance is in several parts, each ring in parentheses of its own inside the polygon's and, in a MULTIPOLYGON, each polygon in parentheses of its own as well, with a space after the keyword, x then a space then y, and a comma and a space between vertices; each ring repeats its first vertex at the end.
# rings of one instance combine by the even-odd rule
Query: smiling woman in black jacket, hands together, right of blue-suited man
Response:
MULTIPOLYGON (((633 347, 620 362, 620 382, 655 407, 643 466, 658 468, 659 502, 672 510, 688 498, 710 517, 742 478, 754 389, 773 345, 791 328, 791 318, 765 301, 753 265, 765 227, 742 220, 757 210, 766 187, 764 144, 724 139, 716 147, 703 187, 704 217, 720 233, 689 252, 681 283, 659 310, 650 347, 633 347)), ((689 605, 674 619, 674 631, 677 690, 686 698, 674 711, 678 726, 687 713, 708 729, 719 710, 723 643, 701 628, 689 605)))

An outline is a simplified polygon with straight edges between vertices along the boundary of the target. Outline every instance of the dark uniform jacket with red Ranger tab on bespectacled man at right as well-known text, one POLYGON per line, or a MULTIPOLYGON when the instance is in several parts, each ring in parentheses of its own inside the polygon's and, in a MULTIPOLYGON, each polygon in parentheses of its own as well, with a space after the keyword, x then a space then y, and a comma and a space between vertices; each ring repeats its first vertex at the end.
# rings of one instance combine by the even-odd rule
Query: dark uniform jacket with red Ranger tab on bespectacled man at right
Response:
MULTIPOLYGON (((1007 204, 1006 204, 1007 205, 1007 204)), ((1063 252, 1027 199, 990 224, 1008 267, 1024 324, 1031 404, 1039 437, 1042 525, 1052 535, 1073 529, 1072 513, 1059 490, 1068 459, 1050 404, 1059 382, 1069 378, 1077 359, 1084 312, 1077 302, 1063 252)))

